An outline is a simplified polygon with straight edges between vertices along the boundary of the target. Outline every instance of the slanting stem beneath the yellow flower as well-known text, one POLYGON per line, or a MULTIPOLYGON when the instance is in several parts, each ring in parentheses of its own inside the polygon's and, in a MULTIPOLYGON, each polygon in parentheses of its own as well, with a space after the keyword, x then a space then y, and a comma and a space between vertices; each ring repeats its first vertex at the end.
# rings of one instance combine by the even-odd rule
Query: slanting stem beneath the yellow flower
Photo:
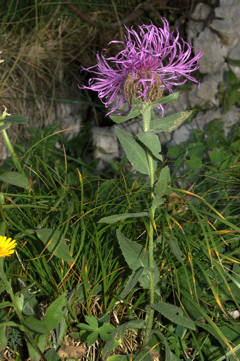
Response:
POLYGON ((42 351, 40 350, 40 348, 38 347, 38 345, 36 345, 34 338, 32 337, 32 335, 30 334, 29 330, 27 329, 27 327, 24 324, 24 319, 22 317, 22 311, 18 308, 18 305, 16 303, 16 298, 13 294, 13 290, 12 287, 10 286, 10 283, 8 282, 4 269, 4 257, 0 257, 0 277, 3 280, 4 286, 6 291, 9 293, 11 300, 12 300, 12 304, 14 307, 15 312, 17 313, 17 316, 19 318, 20 323, 22 324, 25 334, 27 335, 27 338, 29 339, 29 341, 31 342, 32 346, 35 348, 35 350, 39 353, 39 355, 42 357, 43 361, 47 361, 47 359, 45 358, 45 356, 43 355, 42 351))

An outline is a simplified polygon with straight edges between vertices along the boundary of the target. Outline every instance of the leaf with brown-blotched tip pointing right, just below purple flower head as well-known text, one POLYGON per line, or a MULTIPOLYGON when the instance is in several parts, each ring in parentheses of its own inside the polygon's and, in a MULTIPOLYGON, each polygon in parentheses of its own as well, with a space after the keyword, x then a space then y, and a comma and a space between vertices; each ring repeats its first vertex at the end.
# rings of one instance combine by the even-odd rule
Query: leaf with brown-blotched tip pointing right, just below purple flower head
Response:
POLYGON ((172 114, 165 118, 154 119, 150 122, 150 130, 152 130, 153 133, 159 133, 162 130, 171 132, 182 124, 191 114, 192 110, 188 110, 187 112, 172 114))

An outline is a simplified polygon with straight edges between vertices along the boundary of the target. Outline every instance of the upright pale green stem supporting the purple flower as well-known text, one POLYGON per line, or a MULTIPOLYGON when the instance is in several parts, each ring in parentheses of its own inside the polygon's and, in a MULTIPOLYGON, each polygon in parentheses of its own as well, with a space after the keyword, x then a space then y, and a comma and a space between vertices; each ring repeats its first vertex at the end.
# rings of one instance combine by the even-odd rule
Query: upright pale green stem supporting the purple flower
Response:
MULTIPOLYGON (((144 132, 149 131, 150 129, 150 119, 151 119, 151 108, 149 103, 145 103, 141 109, 143 115, 143 130, 144 132)), ((148 165, 149 165, 149 176, 150 176, 150 186, 151 186, 151 203, 154 198, 154 169, 153 169, 153 157, 152 153, 149 149, 146 149, 147 156, 148 156, 148 165)), ((151 210, 150 220, 149 220, 149 268, 153 269, 153 223, 152 220, 154 219, 154 209, 151 210)), ((149 274, 149 290, 150 290, 150 303, 154 303, 154 274, 151 272, 149 274)), ((153 324, 153 314, 154 310, 150 310, 146 314, 146 321, 147 321, 147 331, 144 336, 143 348, 148 345, 152 324, 153 324)))

